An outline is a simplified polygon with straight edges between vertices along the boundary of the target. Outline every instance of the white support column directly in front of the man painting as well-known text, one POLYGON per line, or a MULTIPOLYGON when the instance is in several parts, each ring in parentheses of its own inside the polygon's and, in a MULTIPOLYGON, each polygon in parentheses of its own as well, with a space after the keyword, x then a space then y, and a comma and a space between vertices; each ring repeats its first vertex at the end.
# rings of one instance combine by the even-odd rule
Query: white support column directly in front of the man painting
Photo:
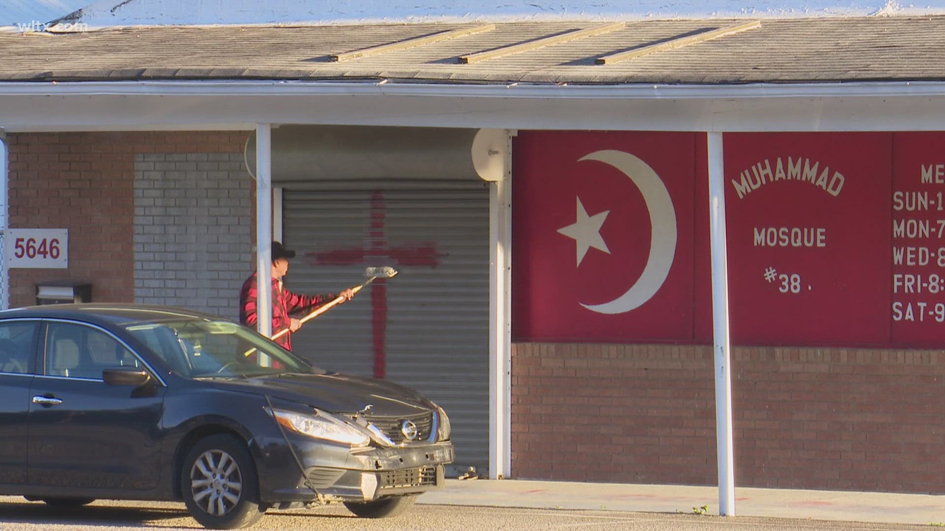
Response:
POLYGON ((256 299, 257 330, 272 335, 272 128, 256 126, 256 299))

